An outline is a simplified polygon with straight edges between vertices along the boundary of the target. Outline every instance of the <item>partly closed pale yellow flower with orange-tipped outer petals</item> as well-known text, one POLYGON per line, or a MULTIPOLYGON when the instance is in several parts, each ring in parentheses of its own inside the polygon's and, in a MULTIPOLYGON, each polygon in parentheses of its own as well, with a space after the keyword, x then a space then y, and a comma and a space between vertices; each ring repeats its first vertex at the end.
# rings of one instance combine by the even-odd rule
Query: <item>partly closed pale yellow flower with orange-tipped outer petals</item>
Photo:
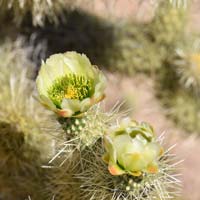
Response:
POLYGON ((108 169, 112 175, 157 173, 163 150, 147 123, 128 120, 105 136, 108 169))

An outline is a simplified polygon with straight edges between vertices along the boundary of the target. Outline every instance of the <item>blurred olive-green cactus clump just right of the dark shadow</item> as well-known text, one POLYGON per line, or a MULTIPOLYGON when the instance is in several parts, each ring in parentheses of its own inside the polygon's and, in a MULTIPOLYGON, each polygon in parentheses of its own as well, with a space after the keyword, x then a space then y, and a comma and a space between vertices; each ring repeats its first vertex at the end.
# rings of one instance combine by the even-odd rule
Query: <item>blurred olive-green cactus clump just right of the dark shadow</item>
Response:
POLYGON ((157 53, 157 45, 150 41, 145 24, 121 23, 113 30, 113 45, 108 48, 106 65, 110 70, 127 74, 151 73, 158 70, 162 54, 157 53), (115 69, 113 69, 113 66, 115 69))

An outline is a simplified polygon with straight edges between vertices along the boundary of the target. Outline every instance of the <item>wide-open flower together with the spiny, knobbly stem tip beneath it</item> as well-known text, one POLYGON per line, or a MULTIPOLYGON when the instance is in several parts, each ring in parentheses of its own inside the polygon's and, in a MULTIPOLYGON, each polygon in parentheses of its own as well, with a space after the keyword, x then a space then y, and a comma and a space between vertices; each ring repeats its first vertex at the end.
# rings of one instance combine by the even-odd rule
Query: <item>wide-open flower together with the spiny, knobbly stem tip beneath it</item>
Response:
POLYGON ((91 133, 91 128, 101 127, 110 117, 92 108, 104 98, 105 77, 84 54, 51 56, 42 64, 36 82, 41 103, 58 115, 68 139, 87 146, 103 134, 103 126, 97 133, 91 133))

